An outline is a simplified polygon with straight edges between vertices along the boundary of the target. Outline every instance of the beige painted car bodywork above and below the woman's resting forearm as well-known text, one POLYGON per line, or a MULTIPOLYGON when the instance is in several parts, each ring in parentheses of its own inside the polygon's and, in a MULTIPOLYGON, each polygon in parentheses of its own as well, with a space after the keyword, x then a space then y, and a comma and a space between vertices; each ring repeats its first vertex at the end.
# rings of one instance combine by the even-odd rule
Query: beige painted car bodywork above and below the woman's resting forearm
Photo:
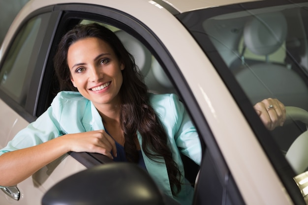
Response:
MULTIPOLYGON (((7 128, 5 130, 1 129, 0 147, 2 148, 17 134, 19 130, 26 127, 29 122, 20 117, 2 100, 0 100, 0 108, 0 116, 5 116, 1 117, 1 128, 7 128), (3 138, 2 136, 6 136, 6 138, 3 138)), ((86 169, 84 165, 80 164, 70 155, 65 154, 56 161, 40 169, 33 176, 18 184, 17 187, 21 193, 19 201, 15 201, 3 192, 0 192, 1 205, 40 205, 41 198, 50 187, 61 181, 63 178, 84 169, 86 169)))

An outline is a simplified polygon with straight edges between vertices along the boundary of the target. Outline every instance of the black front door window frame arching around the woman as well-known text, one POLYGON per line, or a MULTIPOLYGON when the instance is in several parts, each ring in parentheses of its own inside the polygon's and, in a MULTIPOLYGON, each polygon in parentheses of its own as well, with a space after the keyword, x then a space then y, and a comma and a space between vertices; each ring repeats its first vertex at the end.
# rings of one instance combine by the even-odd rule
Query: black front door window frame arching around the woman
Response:
MULTIPOLYGON (((172 58, 168 50, 164 47, 163 43, 154 34, 154 32, 138 19, 127 15, 121 11, 103 6, 93 6, 85 4, 63 4, 55 6, 54 10, 62 12, 62 18, 59 22, 59 28, 70 28, 71 26, 65 25, 67 24, 66 21, 71 20, 71 18, 76 18, 76 16, 78 16, 78 18, 80 19, 89 18, 91 20, 110 23, 113 26, 118 27, 119 29, 125 30, 132 36, 139 39, 142 43, 144 43, 144 45, 152 52, 154 57, 162 65, 166 74, 169 77, 172 76, 171 81, 177 88, 177 92, 180 95, 180 98, 184 101, 184 104, 189 104, 189 106, 185 106, 185 108, 189 112, 190 116, 193 116, 192 119, 198 129, 203 149, 206 150, 203 152, 204 156, 207 155, 206 159, 208 159, 204 161, 202 167, 211 166, 215 170, 215 172, 207 173, 211 173, 211 175, 216 175, 215 177, 205 176, 205 174, 200 175, 200 180, 203 180, 203 183, 199 183, 199 188, 197 188, 197 190, 203 190, 206 187, 208 187, 207 190, 211 190, 213 188, 213 185, 215 185, 218 187, 216 190, 220 190, 221 193, 219 193, 218 195, 213 195, 212 192, 209 192, 205 195, 203 192, 196 192, 196 199, 198 200, 195 201, 195 204, 203 203, 205 199, 214 200, 214 197, 216 197, 215 200, 219 203, 221 203, 222 200, 228 198, 228 200, 231 200, 234 204, 244 204, 244 201, 240 195, 236 183, 216 144, 213 133, 211 132, 211 129, 209 128, 206 119, 202 115, 202 112, 198 106, 196 99, 193 96, 192 91, 189 89, 189 86, 187 85, 184 76, 182 75, 179 67, 177 66, 177 63, 172 58), (207 148, 205 147, 204 142, 206 142, 207 148), (213 156, 215 156, 215 160, 213 159, 213 156), (209 188, 209 186, 207 185, 209 181, 212 181, 211 188, 209 188)), ((62 36, 63 32, 64 30, 57 30, 55 34, 56 40, 53 43, 51 50, 55 50, 55 45, 57 45, 59 37, 62 36)), ((48 69, 51 69, 51 67, 48 68, 48 65, 51 66, 51 59, 52 58, 49 57, 49 63, 47 63, 46 71, 48 69)), ((43 81, 43 83, 44 82, 46 81, 43 81)), ((44 86, 42 86, 42 88, 44 88, 44 86)), ((41 91, 41 93, 46 92, 41 91)), ((44 97, 46 98, 46 96, 40 95, 41 102, 44 101, 42 100, 44 97)), ((39 115, 39 113, 37 113, 37 115, 39 115)), ((95 165, 95 160, 90 159, 91 157, 89 157, 89 155, 85 153, 72 152, 70 154, 80 163, 84 164, 86 167, 95 165), (92 162, 89 163, 89 160, 92 162)), ((96 156, 92 157, 95 158, 96 156)), ((96 160, 98 163, 102 163, 100 159, 96 158, 96 160)))

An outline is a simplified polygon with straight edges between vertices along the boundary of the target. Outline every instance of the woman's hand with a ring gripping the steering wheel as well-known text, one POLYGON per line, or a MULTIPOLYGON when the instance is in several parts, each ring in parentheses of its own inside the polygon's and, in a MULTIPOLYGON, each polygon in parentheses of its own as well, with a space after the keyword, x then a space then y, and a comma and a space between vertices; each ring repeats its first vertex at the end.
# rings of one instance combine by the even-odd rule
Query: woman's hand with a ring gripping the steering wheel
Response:
POLYGON ((268 98, 253 106, 263 124, 268 130, 282 126, 285 121, 285 107, 277 99, 268 98))

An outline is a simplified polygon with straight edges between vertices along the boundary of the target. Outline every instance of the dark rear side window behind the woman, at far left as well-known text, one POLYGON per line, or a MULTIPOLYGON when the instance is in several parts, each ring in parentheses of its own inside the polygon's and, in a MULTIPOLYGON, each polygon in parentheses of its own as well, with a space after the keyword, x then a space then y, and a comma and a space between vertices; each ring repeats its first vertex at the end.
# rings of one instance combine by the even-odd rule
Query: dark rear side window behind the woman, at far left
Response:
MULTIPOLYGON (((0 89, 21 106, 25 106, 34 70, 32 55, 38 54, 42 37, 38 36, 42 14, 30 19, 11 43, 0 70, 0 89), (35 52, 34 52, 35 51, 35 52)), ((35 59, 35 57, 34 57, 35 59)))

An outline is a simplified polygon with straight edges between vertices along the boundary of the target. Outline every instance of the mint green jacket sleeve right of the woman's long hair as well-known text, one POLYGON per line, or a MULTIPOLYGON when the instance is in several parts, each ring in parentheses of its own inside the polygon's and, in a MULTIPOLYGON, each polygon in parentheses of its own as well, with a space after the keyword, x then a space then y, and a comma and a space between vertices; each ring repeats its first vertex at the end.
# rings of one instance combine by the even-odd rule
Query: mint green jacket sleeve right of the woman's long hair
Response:
POLYGON ((178 96, 176 94, 152 94, 150 99, 170 139, 174 158, 180 160, 178 153, 180 151, 200 165, 202 149, 199 136, 178 96))

